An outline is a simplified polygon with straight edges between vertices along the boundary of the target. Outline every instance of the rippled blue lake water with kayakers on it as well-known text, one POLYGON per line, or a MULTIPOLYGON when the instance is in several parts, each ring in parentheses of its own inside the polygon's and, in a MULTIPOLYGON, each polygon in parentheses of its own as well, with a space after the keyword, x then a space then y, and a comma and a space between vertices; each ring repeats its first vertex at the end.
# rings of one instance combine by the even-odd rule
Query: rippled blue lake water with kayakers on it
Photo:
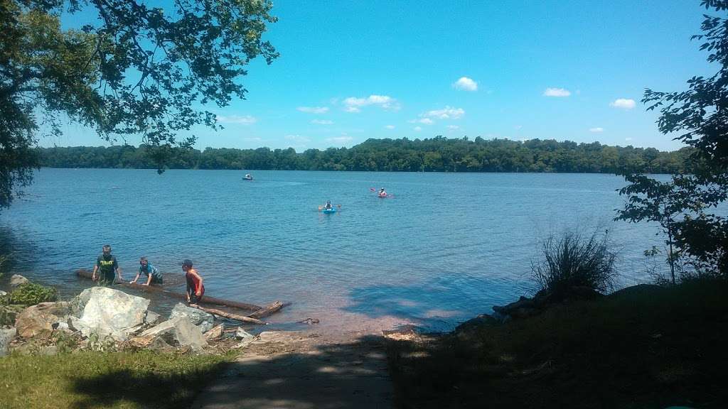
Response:
POLYGON ((290 301, 273 322, 316 317, 349 331, 447 330, 513 301, 532 287, 538 240, 553 231, 609 229, 621 285, 647 279, 642 253, 660 245, 656 226, 612 221, 624 185, 612 175, 252 173, 43 169, 0 213, 0 246, 12 271, 63 295, 90 285, 74 271, 91 269, 105 243, 125 279, 148 255, 181 283, 191 258, 208 295, 290 301), (395 197, 371 193, 381 186, 395 197), (326 199, 341 212, 318 213, 326 199))

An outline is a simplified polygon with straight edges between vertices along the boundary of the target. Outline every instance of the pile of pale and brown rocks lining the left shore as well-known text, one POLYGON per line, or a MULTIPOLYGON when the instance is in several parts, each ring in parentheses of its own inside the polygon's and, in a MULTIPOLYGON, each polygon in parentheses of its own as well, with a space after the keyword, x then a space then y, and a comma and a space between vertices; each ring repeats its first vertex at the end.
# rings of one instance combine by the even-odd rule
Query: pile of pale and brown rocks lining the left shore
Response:
POLYGON ((149 309, 148 299, 108 287, 87 288, 71 301, 12 303, 12 295, 30 284, 16 274, 11 293, 0 292, 0 357, 135 349, 224 354, 260 338, 183 303, 162 317, 149 309))

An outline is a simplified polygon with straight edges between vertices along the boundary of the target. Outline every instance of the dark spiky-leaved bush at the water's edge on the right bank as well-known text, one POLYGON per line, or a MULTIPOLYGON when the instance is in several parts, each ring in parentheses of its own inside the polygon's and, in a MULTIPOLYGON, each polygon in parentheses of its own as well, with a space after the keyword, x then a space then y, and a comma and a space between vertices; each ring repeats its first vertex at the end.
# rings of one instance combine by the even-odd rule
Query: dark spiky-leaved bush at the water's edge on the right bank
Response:
POLYGON ((544 260, 531 263, 534 279, 542 289, 564 294, 573 287, 589 287, 606 293, 614 287, 617 255, 609 251, 607 234, 601 239, 596 233, 588 239, 574 232, 561 238, 551 235, 542 243, 542 251, 544 260))

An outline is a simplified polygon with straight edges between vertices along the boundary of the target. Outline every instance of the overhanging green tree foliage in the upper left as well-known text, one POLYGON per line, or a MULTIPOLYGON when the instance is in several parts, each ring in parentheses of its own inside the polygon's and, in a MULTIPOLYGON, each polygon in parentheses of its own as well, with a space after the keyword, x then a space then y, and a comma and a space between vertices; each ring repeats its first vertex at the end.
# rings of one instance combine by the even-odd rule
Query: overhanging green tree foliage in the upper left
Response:
POLYGON ((106 140, 141 135, 162 164, 197 124, 215 115, 194 107, 245 98, 238 82, 255 57, 277 52, 261 36, 269 0, 0 0, 0 208, 31 182, 39 131, 60 119, 106 140), (63 30, 60 15, 95 13, 98 24, 63 30))

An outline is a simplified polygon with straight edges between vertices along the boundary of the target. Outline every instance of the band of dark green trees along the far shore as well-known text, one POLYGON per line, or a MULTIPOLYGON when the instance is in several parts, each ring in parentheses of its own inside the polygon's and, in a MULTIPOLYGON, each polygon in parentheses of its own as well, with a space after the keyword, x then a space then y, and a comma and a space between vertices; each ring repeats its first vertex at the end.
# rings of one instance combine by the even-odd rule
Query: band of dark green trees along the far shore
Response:
POLYGON ((399 172, 687 172, 692 148, 607 146, 569 140, 475 138, 368 139, 352 148, 160 148, 141 145, 36 148, 41 167, 157 169, 365 170, 399 172), (159 151, 165 149, 165 152, 159 151))

